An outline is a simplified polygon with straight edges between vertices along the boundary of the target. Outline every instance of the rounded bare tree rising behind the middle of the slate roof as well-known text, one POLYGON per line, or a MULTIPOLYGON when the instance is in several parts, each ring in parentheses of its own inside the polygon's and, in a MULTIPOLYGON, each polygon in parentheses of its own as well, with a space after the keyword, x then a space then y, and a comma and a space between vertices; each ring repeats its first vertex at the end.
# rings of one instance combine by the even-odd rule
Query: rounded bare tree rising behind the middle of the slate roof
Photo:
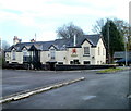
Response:
POLYGON ((76 37, 83 36, 83 30, 79 27, 75 26, 73 23, 69 23, 67 25, 63 25, 61 27, 58 27, 57 29, 57 36, 58 38, 73 38, 74 35, 76 37))

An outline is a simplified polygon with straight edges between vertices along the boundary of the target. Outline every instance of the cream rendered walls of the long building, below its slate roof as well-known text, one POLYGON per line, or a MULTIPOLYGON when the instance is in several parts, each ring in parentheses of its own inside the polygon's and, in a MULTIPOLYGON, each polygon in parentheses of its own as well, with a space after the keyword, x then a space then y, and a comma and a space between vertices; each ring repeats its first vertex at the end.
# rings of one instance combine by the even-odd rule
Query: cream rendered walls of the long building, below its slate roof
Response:
MULTIPOLYGON (((20 64, 23 63, 23 52, 16 52, 16 59, 13 60, 12 52, 7 52, 9 57, 5 58, 5 61, 9 63, 17 62, 20 64)), ((50 50, 49 51, 40 51, 40 62, 46 64, 46 62, 50 61, 50 50)), ((97 47, 92 47, 92 45, 85 40, 82 44, 81 48, 69 48, 67 50, 57 51, 56 50, 56 58, 55 61, 58 63, 61 62, 63 64, 71 64, 71 61, 79 60, 80 64, 84 64, 84 61, 90 61, 91 64, 103 64, 106 63, 106 49, 103 44, 102 38, 99 39, 97 47), (84 55, 84 47, 90 47, 90 55, 84 55), (98 48, 99 48, 99 55, 98 55, 98 48), (75 49, 75 53, 72 50, 75 49)))

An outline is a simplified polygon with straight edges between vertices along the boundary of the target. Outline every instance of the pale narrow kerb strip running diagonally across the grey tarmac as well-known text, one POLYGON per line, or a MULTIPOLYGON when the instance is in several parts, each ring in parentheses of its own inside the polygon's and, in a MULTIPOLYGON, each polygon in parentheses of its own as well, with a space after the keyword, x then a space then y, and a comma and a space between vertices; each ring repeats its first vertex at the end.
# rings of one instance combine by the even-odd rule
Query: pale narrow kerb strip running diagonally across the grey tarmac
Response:
POLYGON ((62 87, 62 86, 66 86, 66 85, 70 85, 70 84, 73 84, 73 83, 76 83, 76 82, 80 82, 80 81, 84 81, 84 79, 85 79, 85 77, 81 77, 81 78, 69 81, 69 82, 55 84, 55 85, 48 86, 48 87, 35 88, 33 90, 27 90, 27 91, 20 92, 20 94, 16 94, 16 95, 14 94, 14 95, 11 95, 11 96, 7 96, 7 97, 3 97, 3 98, 0 99, 0 103, 5 103, 5 102, 9 102, 9 101, 24 99, 24 98, 27 98, 27 97, 33 96, 35 94, 48 91, 48 90, 59 88, 59 87, 62 87))

